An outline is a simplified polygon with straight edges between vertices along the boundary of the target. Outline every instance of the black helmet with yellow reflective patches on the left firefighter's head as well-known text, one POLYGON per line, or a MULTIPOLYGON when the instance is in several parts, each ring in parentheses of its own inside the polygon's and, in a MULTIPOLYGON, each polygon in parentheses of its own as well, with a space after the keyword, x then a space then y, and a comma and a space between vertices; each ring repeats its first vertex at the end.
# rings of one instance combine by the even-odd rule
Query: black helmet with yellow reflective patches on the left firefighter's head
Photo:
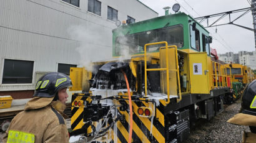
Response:
POLYGON ((72 86, 71 79, 64 73, 46 73, 36 83, 34 96, 51 98, 62 88, 72 86))

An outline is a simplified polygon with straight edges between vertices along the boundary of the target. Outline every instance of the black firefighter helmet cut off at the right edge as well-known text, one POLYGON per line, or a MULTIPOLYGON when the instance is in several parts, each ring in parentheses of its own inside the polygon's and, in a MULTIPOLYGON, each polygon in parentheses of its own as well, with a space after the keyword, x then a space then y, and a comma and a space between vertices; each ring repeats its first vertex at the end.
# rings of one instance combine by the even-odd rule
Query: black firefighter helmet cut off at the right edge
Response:
POLYGON ((242 96, 241 112, 256 116, 256 80, 245 87, 242 96))

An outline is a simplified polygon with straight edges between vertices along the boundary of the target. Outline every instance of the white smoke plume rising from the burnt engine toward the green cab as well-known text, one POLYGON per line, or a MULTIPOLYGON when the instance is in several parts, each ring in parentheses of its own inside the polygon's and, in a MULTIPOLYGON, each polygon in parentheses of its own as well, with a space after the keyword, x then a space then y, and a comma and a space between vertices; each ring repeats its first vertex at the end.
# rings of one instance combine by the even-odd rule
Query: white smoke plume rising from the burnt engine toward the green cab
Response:
MULTIPOLYGON (((78 45, 76 51, 79 52, 80 62, 86 70, 92 71, 92 62, 106 60, 112 58, 112 29, 99 27, 99 25, 72 25, 67 29, 71 39, 77 40, 78 45)), ((122 30, 117 33, 121 37, 121 43, 129 43, 129 40, 122 30)), ((119 61, 130 59, 130 53, 134 53, 127 45, 120 47, 121 56, 117 58, 119 61)))

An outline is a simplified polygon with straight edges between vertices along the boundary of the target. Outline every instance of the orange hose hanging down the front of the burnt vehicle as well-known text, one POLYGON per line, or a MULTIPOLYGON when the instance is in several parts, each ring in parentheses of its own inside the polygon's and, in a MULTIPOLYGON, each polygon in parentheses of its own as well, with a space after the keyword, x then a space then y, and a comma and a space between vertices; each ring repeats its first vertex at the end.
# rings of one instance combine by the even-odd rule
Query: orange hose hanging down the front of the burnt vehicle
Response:
POLYGON ((129 87, 129 82, 127 80, 127 76, 126 73, 121 70, 122 73, 124 74, 124 78, 126 79, 126 86, 127 86, 127 90, 128 90, 128 98, 129 98, 129 109, 130 109, 130 129, 129 129, 129 141, 128 143, 132 142, 132 97, 130 96, 130 87, 129 87))

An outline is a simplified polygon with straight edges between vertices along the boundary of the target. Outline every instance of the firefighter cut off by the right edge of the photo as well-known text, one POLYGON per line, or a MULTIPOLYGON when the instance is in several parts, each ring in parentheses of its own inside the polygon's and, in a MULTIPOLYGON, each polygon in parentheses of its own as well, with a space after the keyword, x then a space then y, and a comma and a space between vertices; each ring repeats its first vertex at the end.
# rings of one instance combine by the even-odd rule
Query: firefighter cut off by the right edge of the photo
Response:
POLYGON ((244 132, 242 142, 256 142, 256 80, 244 90, 240 113, 227 122, 249 126, 251 132, 244 132))

